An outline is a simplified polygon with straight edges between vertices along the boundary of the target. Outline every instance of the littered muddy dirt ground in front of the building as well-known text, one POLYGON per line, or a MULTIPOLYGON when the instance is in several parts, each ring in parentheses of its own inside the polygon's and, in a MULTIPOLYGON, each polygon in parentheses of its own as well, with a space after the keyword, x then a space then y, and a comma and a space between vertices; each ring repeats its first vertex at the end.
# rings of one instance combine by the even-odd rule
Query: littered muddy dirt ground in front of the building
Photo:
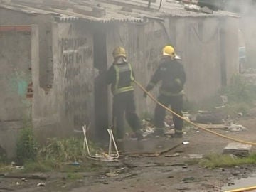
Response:
MULTIPOLYGON (((256 142, 255 114, 252 110, 250 116, 234 119, 235 123, 246 127, 246 131, 229 132, 223 129, 214 129, 214 131, 256 142)), ((88 160, 86 166, 95 166, 95 171, 79 173, 82 177, 77 179, 68 179, 67 173, 45 173, 49 177, 43 181, 29 178, 27 181, 22 181, 21 178, 6 178, 2 175, 0 191, 216 192, 223 191, 222 186, 233 183, 233 178, 245 178, 255 170, 255 166, 207 169, 198 164, 188 164, 192 154, 196 156, 221 154, 223 148, 233 141, 200 129, 185 131, 186 134, 182 139, 155 139, 154 144, 156 148, 159 147, 159 151, 161 147, 171 149, 176 146, 159 156, 122 155, 117 163, 88 160), (181 144, 182 142, 189 144, 181 144), (45 183, 45 186, 37 186, 40 182, 45 183)), ((252 152, 254 151, 255 146, 252 146, 252 152)))

